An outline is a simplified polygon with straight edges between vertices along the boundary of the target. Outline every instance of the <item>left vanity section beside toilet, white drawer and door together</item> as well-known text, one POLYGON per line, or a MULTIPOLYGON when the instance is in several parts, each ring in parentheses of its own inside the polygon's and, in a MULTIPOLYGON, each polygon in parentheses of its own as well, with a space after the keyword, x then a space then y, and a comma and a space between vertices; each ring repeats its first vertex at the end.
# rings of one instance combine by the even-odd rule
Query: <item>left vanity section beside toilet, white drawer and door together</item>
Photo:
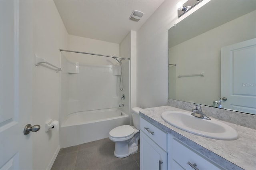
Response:
POLYGON ((167 133, 140 118, 140 170, 167 170, 167 133))

